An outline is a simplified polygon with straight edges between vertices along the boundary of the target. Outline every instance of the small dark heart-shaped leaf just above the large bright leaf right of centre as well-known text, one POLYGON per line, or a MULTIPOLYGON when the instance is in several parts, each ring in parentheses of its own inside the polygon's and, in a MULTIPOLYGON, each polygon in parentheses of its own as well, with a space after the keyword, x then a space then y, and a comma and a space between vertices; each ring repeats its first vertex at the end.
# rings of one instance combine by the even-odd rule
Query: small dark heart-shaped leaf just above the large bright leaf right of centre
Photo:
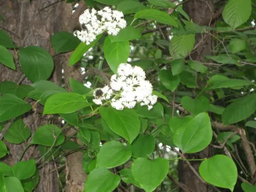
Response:
POLYGON ((191 112, 193 116, 201 112, 206 112, 209 109, 209 101, 204 96, 199 96, 195 99, 189 96, 183 96, 181 98, 181 105, 186 111, 191 112))

